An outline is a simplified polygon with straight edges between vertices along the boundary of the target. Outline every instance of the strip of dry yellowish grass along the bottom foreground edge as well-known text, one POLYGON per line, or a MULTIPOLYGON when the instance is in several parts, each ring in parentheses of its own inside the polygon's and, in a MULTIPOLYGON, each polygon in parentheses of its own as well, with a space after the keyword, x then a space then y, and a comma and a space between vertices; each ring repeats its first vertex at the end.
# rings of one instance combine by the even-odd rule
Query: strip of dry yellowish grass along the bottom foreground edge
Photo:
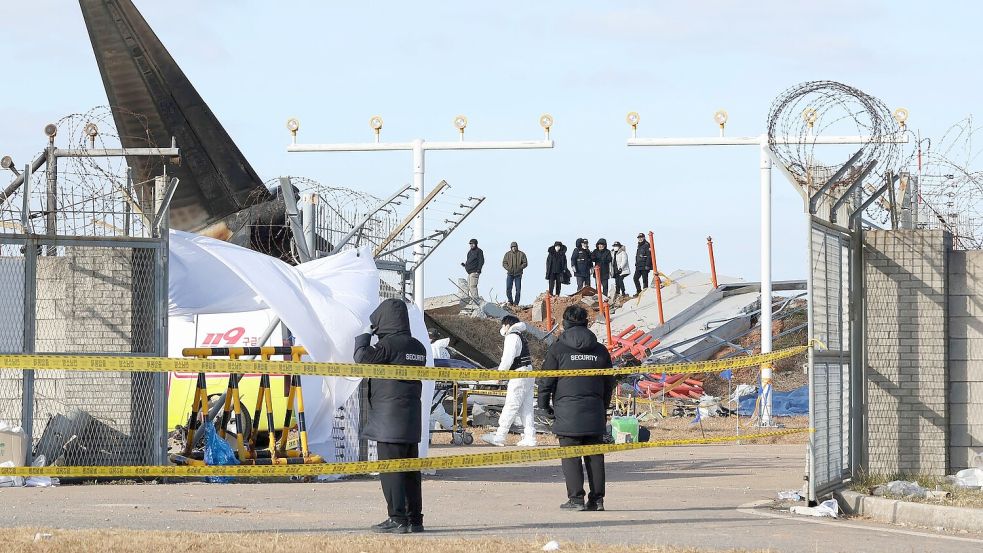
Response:
MULTIPOLYGON (((204 534, 194 532, 156 532, 137 530, 38 530, 14 528, 0 530, 0 545, 8 552, 82 553, 89 551, 174 552, 202 551, 294 552, 319 553, 389 552, 433 553, 466 551, 542 551, 549 538, 537 541, 508 541, 494 538, 444 539, 427 536, 372 536, 360 534, 204 534), (38 535, 50 534, 50 537, 38 535), (262 544, 262 545, 260 545, 262 544)), ((658 545, 592 545, 562 542, 560 551, 578 553, 702 553, 706 549, 658 545)), ((727 550, 746 551, 746 550, 727 550)))

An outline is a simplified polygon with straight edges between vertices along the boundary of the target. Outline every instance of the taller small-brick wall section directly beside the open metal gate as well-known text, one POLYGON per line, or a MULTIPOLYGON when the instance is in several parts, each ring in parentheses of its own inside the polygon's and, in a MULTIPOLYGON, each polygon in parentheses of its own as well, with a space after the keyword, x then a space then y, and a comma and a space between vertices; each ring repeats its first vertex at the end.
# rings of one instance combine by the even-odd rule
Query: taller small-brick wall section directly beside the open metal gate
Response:
POLYGON ((948 472, 947 262, 943 231, 865 234, 867 465, 948 472))

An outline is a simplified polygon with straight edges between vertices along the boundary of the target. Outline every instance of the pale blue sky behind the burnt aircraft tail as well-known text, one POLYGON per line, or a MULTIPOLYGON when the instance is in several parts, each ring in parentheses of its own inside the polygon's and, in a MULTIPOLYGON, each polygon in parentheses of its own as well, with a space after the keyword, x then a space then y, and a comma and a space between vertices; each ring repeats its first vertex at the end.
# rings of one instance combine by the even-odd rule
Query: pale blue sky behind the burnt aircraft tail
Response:
MULTIPOLYGON (((18 163, 41 128, 106 103, 76 2, 4 2, 0 153, 18 163), (43 19, 42 19, 42 14, 43 19), (44 29, 42 29, 44 21, 44 29)), ((760 134, 772 99, 832 79, 911 110, 923 136, 978 111, 983 41, 974 2, 260 2, 137 0, 264 179, 290 174, 388 195, 411 178, 406 152, 288 154, 290 116, 302 142, 537 139, 551 113, 554 150, 432 152, 427 185, 446 179, 485 204, 428 261, 428 295, 463 276, 467 240, 490 267, 482 292, 503 298, 509 242, 529 254, 526 297, 545 288, 554 240, 631 243, 656 233, 659 265, 706 270, 713 235, 721 273, 759 277, 753 148, 629 149, 640 136, 760 134)), ((804 278, 798 194, 774 173, 774 276, 804 278)))

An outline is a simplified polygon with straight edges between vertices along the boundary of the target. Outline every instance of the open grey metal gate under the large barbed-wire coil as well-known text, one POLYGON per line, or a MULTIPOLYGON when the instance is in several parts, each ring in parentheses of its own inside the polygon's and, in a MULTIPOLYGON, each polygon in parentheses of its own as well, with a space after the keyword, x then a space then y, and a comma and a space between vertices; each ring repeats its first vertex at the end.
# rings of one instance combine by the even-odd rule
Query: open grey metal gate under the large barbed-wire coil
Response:
POLYGON ((846 483, 856 466, 854 401, 858 385, 853 331, 860 328, 851 305, 859 291, 856 237, 847 229, 810 216, 809 335, 821 342, 809 355, 809 500, 846 483))

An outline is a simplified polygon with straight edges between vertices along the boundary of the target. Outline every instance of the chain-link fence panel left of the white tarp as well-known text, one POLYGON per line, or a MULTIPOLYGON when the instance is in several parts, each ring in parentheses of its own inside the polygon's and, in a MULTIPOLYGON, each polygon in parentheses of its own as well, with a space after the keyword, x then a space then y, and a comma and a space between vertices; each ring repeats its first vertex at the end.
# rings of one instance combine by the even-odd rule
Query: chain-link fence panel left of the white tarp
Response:
MULTIPOLYGON (((164 353, 163 240, 0 235, 0 252, 0 351, 164 353)), ((0 419, 48 463, 160 464, 164 376, 0 369, 0 419)))

